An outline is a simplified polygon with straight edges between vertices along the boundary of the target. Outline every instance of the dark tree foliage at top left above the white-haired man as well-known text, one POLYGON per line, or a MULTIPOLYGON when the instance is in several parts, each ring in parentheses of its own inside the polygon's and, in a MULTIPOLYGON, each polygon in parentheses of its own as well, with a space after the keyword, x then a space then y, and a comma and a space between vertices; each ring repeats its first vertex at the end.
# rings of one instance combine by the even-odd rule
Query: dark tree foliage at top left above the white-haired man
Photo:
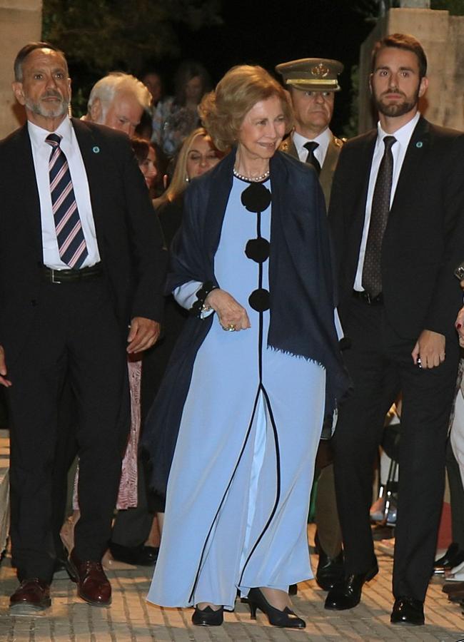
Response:
POLYGON ((42 36, 69 63, 96 75, 141 71, 147 59, 175 57, 174 23, 189 29, 221 24, 220 0, 44 0, 42 36))

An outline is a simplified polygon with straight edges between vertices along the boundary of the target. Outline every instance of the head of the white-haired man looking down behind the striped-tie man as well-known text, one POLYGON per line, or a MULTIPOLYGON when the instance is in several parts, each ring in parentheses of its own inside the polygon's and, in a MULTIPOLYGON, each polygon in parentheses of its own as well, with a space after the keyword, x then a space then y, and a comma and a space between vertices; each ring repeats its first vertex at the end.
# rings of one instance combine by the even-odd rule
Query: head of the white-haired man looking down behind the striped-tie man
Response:
POLYGON ((135 76, 113 71, 94 84, 85 119, 133 136, 143 111, 151 105, 151 94, 135 76))

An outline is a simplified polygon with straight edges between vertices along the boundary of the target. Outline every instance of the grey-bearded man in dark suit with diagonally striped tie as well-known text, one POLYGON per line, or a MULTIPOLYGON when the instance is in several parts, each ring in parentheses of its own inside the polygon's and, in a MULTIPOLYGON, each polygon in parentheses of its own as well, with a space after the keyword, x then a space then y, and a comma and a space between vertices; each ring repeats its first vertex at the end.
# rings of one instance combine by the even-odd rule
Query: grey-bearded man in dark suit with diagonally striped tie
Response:
POLYGON ((26 45, 14 94, 27 123, 0 143, 0 384, 11 417, 15 613, 50 605, 51 477, 62 384, 79 421, 81 519, 70 569, 81 598, 111 602, 101 556, 126 444, 126 352, 158 337, 161 230, 126 135, 67 117, 61 51, 26 45))

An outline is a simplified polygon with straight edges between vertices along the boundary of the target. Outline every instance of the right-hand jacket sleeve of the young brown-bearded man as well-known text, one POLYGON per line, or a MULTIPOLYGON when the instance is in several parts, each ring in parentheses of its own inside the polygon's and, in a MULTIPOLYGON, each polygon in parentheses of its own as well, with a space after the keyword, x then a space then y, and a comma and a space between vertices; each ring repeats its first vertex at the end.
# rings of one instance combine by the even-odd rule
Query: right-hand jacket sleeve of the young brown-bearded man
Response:
POLYGON ((454 322, 463 302, 454 270, 464 261, 464 136, 456 137, 449 147, 443 185, 444 250, 424 324, 426 330, 448 337, 455 334, 454 322))

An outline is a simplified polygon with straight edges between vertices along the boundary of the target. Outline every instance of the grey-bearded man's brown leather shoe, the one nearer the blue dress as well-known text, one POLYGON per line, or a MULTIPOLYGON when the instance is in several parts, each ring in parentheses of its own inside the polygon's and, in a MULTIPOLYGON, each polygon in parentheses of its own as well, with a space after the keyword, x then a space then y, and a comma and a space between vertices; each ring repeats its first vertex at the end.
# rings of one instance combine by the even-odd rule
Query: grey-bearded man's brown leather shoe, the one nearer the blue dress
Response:
POLYGON ((111 584, 100 562, 81 561, 73 549, 68 560, 68 571, 71 579, 77 584, 79 597, 92 606, 111 604, 111 584))

